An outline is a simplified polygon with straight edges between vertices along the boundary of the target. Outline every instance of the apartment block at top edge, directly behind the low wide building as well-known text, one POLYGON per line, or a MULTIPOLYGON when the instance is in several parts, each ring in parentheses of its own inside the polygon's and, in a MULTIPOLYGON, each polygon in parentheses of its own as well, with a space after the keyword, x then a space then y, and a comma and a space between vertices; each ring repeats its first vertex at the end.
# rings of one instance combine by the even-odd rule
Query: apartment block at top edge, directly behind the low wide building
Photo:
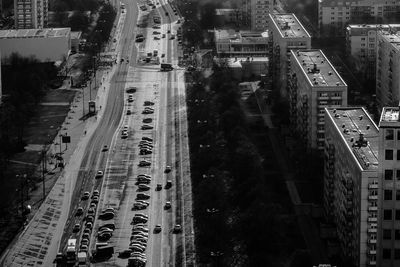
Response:
POLYGON ((243 0, 242 16, 245 25, 252 31, 263 32, 268 29, 268 15, 274 10, 276 0, 243 0))

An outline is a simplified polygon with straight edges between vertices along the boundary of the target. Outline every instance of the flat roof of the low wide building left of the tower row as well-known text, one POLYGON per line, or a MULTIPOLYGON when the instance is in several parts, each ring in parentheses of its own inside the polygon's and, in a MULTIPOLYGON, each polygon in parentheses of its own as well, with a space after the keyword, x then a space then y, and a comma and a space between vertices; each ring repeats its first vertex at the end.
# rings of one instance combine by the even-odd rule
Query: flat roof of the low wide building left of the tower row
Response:
POLYGON ((268 32, 248 32, 248 31, 234 31, 234 30, 214 30, 216 41, 225 41, 231 43, 241 42, 266 42, 268 32))

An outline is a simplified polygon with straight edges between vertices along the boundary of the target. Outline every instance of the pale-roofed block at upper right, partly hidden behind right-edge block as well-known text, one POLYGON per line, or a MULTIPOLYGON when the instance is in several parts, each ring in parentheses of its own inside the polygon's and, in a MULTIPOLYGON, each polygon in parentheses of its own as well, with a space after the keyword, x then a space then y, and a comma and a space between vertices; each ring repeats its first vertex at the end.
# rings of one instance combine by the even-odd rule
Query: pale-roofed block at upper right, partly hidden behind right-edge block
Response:
POLYGON ((350 24, 346 28, 346 50, 356 71, 371 80, 376 75, 376 46, 378 32, 396 32, 400 24, 350 24))

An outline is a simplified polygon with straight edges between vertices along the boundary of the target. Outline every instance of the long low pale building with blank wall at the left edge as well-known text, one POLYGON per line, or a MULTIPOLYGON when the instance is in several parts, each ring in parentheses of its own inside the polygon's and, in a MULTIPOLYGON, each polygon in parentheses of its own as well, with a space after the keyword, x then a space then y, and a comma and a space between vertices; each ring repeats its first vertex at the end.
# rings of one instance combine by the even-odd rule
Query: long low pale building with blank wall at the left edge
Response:
POLYGON ((63 61, 71 50, 71 29, 1 30, 0 50, 3 61, 12 53, 41 62, 63 61))

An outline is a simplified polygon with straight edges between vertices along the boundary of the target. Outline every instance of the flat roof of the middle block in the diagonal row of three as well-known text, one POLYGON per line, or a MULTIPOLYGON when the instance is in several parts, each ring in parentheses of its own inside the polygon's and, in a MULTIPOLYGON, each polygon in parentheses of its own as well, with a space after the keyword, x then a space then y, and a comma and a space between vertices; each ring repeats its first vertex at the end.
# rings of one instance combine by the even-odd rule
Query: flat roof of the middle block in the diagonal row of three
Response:
POLYGON ((291 53, 312 87, 347 86, 321 50, 291 50, 291 53))

